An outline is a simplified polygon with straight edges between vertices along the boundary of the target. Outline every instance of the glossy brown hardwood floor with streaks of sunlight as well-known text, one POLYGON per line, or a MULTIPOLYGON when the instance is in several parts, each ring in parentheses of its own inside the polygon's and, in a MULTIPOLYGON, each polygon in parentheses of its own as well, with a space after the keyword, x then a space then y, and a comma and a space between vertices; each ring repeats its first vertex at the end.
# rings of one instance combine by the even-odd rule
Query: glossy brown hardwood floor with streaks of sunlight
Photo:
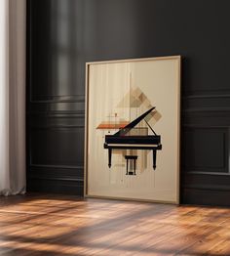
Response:
POLYGON ((230 209, 0 197, 0 255, 230 255, 230 209))

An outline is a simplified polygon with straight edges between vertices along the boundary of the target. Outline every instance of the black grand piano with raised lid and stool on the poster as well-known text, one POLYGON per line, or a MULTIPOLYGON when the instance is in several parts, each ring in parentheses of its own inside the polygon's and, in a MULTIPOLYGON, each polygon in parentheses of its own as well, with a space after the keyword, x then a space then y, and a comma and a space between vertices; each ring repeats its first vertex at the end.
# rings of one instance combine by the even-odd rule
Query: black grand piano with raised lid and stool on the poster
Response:
MULTIPOLYGON (((114 135, 105 135, 104 149, 108 149, 108 167, 111 167, 112 149, 152 149, 153 152, 153 169, 156 169, 157 150, 162 149, 161 136, 157 135, 150 124, 146 121, 146 116, 151 113, 155 107, 151 107, 146 112, 138 116, 134 121, 120 129, 114 135), (147 126, 152 131, 153 135, 130 135, 130 131, 141 120, 144 120, 147 126)), ((135 160, 137 155, 126 155, 127 159, 127 174, 135 175, 135 160), (129 161, 134 161, 134 172, 128 172, 129 161)))

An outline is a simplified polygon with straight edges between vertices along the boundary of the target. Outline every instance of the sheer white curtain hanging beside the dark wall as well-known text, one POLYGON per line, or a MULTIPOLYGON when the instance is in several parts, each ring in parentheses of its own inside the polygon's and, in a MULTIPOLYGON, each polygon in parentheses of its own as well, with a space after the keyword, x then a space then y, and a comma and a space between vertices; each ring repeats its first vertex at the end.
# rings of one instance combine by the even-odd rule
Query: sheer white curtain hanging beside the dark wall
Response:
POLYGON ((25 192, 25 0, 0 0, 0 194, 25 192))

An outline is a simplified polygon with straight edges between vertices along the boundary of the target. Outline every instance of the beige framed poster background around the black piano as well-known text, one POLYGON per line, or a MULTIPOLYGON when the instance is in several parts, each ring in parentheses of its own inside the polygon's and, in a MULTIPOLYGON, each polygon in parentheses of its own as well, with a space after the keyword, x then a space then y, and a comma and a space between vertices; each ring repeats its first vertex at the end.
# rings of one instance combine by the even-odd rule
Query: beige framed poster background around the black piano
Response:
MULTIPOLYGON (((178 202, 180 57, 152 58, 87 64, 86 195, 178 202), (134 102, 134 95, 140 102, 134 102), (124 150, 113 150, 108 168, 106 134, 117 129, 99 125, 131 122, 150 107, 158 118, 150 124, 161 135, 157 168, 152 150, 135 151, 136 175, 126 175, 124 150), (97 128, 97 129, 96 129, 97 128)), ((147 127, 141 122, 141 127, 147 127)), ((151 135, 150 129, 148 134, 151 135)))

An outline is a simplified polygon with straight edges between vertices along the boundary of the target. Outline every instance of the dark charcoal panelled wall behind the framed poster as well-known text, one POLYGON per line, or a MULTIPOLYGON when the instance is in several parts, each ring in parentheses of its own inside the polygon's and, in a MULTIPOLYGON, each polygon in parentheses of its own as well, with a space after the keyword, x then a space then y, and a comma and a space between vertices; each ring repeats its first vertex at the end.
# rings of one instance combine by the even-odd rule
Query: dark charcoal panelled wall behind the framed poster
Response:
POLYGON ((181 55, 181 202, 230 205, 230 1, 27 3, 29 191, 83 192, 86 62, 181 55))

